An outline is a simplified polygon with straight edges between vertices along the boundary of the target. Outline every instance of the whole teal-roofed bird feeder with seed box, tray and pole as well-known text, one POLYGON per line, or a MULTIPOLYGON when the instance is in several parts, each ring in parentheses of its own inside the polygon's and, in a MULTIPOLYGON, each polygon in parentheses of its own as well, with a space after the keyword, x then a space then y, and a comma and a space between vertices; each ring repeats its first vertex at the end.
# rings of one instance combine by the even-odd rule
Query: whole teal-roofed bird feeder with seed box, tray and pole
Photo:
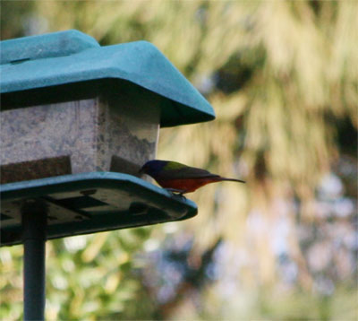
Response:
POLYGON ((191 201, 136 177, 160 126, 215 117, 146 41, 77 30, 1 42, 1 246, 24 244, 24 317, 43 319, 46 239, 184 220, 191 201))

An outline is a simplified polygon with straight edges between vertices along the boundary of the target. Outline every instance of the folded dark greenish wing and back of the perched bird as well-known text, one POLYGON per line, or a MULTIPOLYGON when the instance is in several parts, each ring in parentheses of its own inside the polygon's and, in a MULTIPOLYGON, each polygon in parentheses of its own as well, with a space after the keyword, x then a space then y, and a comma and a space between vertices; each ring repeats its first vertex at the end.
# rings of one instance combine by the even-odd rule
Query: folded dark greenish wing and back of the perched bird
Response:
POLYGON ((161 179, 185 179, 185 178, 219 178, 218 175, 211 174, 208 170, 197 169, 180 163, 168 164, 161 170, 161 179), (169 165, 169 166, 168 166, 169 165))

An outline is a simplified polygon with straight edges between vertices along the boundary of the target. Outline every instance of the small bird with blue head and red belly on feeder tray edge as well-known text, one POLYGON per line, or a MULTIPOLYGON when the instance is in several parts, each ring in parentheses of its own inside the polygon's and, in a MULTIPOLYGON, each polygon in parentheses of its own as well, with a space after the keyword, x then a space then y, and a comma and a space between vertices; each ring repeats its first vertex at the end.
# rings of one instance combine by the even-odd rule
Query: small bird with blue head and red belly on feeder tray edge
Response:
POLYGON ((142 166, 140 173, 149 175, 161 187, 180 195, 191 193, 209 183, 223 180, 244 183, 241 179, 222 178, 219 175, 211 174, 208 170, 197 169, 170 160, 149 160, 142 166))

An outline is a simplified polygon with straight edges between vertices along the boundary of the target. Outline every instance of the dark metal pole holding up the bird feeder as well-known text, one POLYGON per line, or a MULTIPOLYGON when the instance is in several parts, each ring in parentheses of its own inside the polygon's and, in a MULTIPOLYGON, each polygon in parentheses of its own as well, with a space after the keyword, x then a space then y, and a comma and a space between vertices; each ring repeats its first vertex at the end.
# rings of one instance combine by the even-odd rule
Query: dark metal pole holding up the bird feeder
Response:
POLYGON ((47 208, 38 200, 27 200, 21 207, 24 321, 45 320, 45 243, 47 208))

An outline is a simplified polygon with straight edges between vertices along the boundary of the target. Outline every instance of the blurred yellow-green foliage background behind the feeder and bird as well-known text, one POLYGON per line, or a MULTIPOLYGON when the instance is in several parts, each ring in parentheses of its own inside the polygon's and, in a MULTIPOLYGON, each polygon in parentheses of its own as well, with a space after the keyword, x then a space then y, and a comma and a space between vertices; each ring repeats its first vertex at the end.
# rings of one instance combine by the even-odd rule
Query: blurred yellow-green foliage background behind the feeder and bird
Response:
MULTIPOLYGON (((160 131, 158 159, 245 186, 189 221, 47 242, 47 320, 358 320, 358 3, 1 1, 1 38, 146 39, 215 121, 160 131)), ((0 249, 0 319, 22 316, 22 247, 0 249)))

